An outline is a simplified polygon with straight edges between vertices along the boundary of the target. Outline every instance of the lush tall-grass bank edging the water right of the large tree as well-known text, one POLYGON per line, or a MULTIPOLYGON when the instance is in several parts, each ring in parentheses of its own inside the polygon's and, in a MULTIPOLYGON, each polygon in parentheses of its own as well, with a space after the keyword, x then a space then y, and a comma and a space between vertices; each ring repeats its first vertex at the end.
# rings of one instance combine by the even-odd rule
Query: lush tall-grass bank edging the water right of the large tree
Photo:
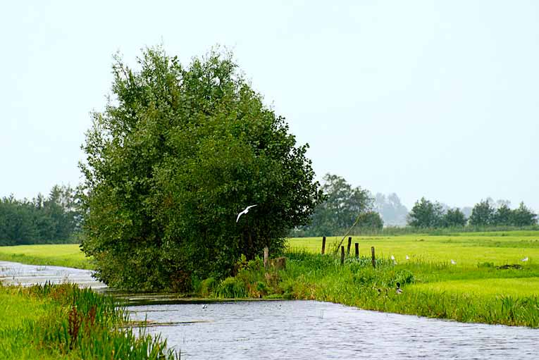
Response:
POLYGON ((465 323, 539 327, 539 298, 528 281, 538 281, 539 269, 477 268, 478 291, 436 289, 428 284, 445 278, 467 278, 471 273, 450 263, 395 265, 378 259, 348 258, 344 265, 333 256, 290 252, 284 270, 265 271, 261 261, 238 267, 234 278, 221 283, 204 280, 199 294, 215 297, 282 297, 334 302, 360 309, 444 318, 465 323), (525 277, 524 277, 525 276, 525 277), (498 294, 486 285, 510 283, 519 296, 498 294), (485 286, 481 286, 484 281, 485 286), (401 291, 397 291, 397 283, 401 291))

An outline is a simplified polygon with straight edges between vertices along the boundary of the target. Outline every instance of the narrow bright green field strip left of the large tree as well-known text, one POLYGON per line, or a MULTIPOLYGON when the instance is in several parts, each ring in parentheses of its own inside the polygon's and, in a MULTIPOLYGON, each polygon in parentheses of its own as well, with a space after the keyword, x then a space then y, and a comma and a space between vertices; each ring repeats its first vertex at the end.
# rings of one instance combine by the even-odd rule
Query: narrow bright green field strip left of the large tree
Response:
POLYGON ((0 261, 91 269, 92 263, 78 244, 18 245, 0 247, 0 261))

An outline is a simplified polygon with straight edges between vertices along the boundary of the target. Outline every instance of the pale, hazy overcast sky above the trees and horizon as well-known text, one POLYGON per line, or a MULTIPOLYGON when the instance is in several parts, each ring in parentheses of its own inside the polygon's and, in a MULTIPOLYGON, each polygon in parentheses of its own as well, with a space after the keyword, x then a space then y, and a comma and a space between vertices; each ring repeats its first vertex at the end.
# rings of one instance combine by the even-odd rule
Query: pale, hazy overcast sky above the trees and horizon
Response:
POLYGON ((539 210, 537 1, 9 1, 0 5, 0 196, 77 185, 112 55, 221 44, 321 178, 410 207, 539 210), (331 4, 331 5, 328 5, 331 4))

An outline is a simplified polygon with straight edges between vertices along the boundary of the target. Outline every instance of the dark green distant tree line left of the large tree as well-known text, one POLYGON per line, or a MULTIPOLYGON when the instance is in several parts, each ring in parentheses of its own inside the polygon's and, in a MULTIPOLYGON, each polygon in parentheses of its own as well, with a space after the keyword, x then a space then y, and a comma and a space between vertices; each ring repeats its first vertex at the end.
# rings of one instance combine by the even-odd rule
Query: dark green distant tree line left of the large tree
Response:
POLYGON ((0 246, 74 242, 80 228, 75 190, 55 185, 48 197, 0 199, 0 246))

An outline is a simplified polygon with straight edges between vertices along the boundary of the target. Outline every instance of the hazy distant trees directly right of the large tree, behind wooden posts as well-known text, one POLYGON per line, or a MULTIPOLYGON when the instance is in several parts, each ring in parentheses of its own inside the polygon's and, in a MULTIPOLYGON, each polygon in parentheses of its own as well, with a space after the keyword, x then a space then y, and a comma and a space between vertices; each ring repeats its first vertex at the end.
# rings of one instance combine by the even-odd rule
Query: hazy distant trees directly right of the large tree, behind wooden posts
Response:
POLYGON ((294 236, 337 235, 352 225, 359 230, 380 230, 383 221, 374 211, 374 198, 368 190, 352 187, 344 178, 326 174, 321 190, 325 200, 315 207, 311 222, 292 232, 294 236))

